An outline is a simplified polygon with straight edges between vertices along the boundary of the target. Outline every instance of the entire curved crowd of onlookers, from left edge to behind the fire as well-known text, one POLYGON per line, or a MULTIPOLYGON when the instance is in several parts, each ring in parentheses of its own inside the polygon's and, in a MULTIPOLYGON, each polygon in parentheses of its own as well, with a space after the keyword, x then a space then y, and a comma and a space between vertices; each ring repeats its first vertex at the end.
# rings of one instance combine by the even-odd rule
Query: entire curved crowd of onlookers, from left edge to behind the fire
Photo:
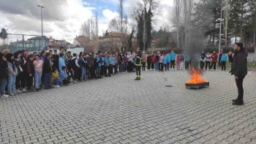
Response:
MULTIPOLYGON (((42 50, 41 53, 29 54, 26 50, 10 53, 8 49, 0 53, 0 96, 13 96, 27 91, 40 91, 42 88, 65 86, 111 77, 118 72, 137 72, 137 52, 129 53, 71 53, 61 48, 57 50, 42 50), (8 95, 7 95, 8 94, 8 95)), ((157 52, 140 53, 142 70, 166 71, 169 69, 189 69, 190 58, 187 55, 157 52)), ((229 54, 230 57, 230 54, 229 54)), ((232 57, 232 53, 231 53, 232 57)), ((217 59, 225 70, 227 56, 201 53, 200 68, 216 69, 217 59)), ((140 64, 140 62, 139 62, 140 64)), ((140 69, 140 67, 139 67, 140 69)), ((137 80, 140 80, 140 74, 137 80)))

